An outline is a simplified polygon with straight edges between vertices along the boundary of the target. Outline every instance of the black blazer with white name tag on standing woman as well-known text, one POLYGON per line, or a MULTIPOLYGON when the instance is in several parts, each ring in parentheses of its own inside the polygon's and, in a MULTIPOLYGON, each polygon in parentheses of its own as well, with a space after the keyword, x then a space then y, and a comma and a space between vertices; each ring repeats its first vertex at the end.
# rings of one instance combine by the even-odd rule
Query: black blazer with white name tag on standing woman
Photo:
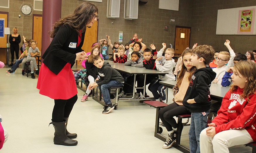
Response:
POLYGON ((85 33, 82 33, 81 43, 78 44, 78 33, 68 24, 59 28, 51 44, 46 49, 42 58, 43 63, 54 73, 58 74, 67 64, 75 64, 76 53, 82 52, 85 33))

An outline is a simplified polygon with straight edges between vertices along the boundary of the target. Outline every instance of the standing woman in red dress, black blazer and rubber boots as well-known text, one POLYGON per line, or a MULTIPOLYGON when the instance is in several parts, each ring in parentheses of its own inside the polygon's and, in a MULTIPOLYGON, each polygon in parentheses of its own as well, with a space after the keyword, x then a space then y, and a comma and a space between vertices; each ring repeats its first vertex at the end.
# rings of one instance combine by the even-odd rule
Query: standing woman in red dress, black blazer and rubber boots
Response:
POLYGON ((98 8, 90 2, 81 3, 74 13, 60 19, 49 34, 51 44, 42 55, 44 59, 37 82, 39 93, 54 99, 52 124, 54 144, 77 145, 76 133, 66 129, 68 117, 77 101, 77 88, 71 70, 75 60, 80 62, 88 55, 81 49, 86 27, 97 21, 98 8))

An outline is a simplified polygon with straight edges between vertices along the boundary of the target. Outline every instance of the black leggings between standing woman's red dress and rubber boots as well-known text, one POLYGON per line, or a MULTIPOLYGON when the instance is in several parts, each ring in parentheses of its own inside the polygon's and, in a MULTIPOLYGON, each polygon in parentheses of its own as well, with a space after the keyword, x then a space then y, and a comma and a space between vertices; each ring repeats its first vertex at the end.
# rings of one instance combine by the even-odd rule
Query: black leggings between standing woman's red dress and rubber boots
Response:
POLYGON ((54 108, 52 111, 52 122, 63 122, 64 117, 69 117, 70 112, 77 101, 77 95, 70 99, 54 99, 54 108))

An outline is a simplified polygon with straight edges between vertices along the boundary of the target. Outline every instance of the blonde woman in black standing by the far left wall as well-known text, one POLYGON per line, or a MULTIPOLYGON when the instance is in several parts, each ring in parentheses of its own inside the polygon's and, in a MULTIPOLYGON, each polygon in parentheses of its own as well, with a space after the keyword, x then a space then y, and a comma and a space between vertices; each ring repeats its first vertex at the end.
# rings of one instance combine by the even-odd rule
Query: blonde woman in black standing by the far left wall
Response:
POLYGON ((14 60, 14 52, 16 54, 16 59, 19 58, 19 43, 20 43, 20 35, 18 34, 18 29, 16 27, 13 28, 13 34, 9 37, 10 42, 10 50, 11 50, 11 64, 8 66, 13 66, 13 60, 14 60))

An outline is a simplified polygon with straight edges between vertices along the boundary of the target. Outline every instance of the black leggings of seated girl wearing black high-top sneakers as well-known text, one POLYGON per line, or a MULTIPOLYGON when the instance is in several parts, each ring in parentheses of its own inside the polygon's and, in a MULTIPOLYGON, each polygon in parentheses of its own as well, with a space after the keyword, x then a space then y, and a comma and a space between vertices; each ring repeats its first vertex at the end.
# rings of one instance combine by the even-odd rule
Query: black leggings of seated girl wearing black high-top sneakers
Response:
POLYGON ((172 127, 176 129, 178 126, 176 120, 173 117, 184 114, 191 114, 191 112, 187 108, 185 108, 185 106, 178 105, 175 102, 165 106, 158 112, 158 116, 160 117, 167 131, 171 131, 172 127))

